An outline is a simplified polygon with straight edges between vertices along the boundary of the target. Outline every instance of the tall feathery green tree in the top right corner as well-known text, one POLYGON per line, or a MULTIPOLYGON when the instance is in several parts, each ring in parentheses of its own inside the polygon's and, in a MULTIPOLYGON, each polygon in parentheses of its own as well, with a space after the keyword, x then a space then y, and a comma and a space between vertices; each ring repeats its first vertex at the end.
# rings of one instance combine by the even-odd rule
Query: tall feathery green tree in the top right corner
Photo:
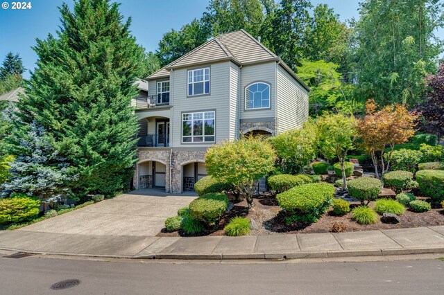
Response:
POLYGON ((436 70, 444 3, 438 0, 365 0, 356 26, 357 78, 368 98, 381 105, 413 105, 436 70))

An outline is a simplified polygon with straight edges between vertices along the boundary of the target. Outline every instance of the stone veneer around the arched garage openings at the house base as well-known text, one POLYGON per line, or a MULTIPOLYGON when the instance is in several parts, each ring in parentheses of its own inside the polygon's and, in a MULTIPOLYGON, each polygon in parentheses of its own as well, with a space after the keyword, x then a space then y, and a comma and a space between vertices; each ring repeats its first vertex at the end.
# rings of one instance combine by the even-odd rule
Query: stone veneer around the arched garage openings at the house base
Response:
POLYGON ((163 163, 167 166, 165 171, 165 192, 166 193, 180 193, 182 192, 182 168, 188 163, 194 162, 205 162, 205 150, 173 150, 172 153, 172 179, 171 187, 172 191, 169 191, 169 181, 170 181, 170 167, 169 167, 169 157, 170 149, 165 150, 153 150, 153 149, 139 149, 137 156, 139 161, 137 161, 137 166, 135 170, 134 177, 134 187, 139 189, 139 164, 146 161, 157 161, 163 163))

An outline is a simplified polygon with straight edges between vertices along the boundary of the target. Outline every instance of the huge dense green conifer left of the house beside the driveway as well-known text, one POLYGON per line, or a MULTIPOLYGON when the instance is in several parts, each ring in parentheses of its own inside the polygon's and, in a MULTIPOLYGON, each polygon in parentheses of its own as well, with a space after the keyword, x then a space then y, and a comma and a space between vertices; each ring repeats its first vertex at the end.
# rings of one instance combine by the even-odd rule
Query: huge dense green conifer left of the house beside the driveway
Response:
POLYGON ((144 50, 117 3, 78 0, 73 11, 66 3, 59 10, 57 36, 37 39, 37 69, 17 105, 19 120, 8 144, 18 146, 35 120, 78 175, 69 184, 76 195, 112 195, 133 175, 137 118, 130 100, 137 95, 132 84, 142 75, 144 50))

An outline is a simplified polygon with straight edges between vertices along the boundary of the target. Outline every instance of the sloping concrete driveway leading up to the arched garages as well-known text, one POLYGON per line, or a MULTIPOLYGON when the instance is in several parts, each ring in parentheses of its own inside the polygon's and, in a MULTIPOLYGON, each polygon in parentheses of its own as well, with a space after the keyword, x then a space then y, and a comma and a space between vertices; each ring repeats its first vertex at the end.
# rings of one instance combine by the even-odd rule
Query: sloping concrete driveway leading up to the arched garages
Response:
POLYGON ((195 199, 159 190, 137 190, 70 213, 22 227, 18 231, 80 235, 154 236, 167 217, 195 199))

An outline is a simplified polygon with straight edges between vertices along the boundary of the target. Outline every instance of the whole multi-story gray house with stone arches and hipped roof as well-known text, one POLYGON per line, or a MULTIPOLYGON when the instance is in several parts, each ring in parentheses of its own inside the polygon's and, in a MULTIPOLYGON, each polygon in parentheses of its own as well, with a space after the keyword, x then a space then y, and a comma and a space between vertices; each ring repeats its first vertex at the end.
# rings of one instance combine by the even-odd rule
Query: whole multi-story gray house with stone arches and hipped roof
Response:
POLYGON ((148 92, 136 102, 137 189, 192 190, 207 175, 208 147, 280 134, 308 117, 309 87, 244 30, 210 39, 145 80, 148 92))

